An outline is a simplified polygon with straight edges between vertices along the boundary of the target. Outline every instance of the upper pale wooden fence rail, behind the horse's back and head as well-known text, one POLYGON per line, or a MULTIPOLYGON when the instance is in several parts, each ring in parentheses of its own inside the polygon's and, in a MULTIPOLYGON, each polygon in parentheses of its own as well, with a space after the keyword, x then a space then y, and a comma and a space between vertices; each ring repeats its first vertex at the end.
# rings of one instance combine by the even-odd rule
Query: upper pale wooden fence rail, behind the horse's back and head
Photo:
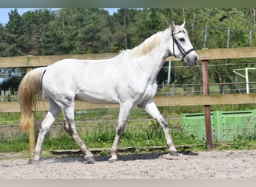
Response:
MULTIPOLYGON (((256 47, 228 48, 228 49, 201 49, 197 50, 200 60, 217 60, 232 58, 256 58, 256 47)), ((86 55, 49 55, 49 56, 18 56, 1 57, 0 67, 43 67, 49 66, 64 58, 76 59, 107 59, 117 53, 86 54, 86 55)), ((180 61, 178 58, 168 57, 166 61, 180 61)))

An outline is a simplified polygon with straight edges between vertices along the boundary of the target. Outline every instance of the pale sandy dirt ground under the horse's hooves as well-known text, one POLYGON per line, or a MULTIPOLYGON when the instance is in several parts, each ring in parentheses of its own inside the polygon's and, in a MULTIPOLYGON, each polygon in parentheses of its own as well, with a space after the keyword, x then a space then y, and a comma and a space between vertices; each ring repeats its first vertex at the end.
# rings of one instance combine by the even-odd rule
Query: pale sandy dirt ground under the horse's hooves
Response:
POLYGON ((82 156, 51 157, 37 165, 2 156, 0 179, 256 179, 256 150, 131 154, 115 163, 96 156, 93 164, 82 156))

